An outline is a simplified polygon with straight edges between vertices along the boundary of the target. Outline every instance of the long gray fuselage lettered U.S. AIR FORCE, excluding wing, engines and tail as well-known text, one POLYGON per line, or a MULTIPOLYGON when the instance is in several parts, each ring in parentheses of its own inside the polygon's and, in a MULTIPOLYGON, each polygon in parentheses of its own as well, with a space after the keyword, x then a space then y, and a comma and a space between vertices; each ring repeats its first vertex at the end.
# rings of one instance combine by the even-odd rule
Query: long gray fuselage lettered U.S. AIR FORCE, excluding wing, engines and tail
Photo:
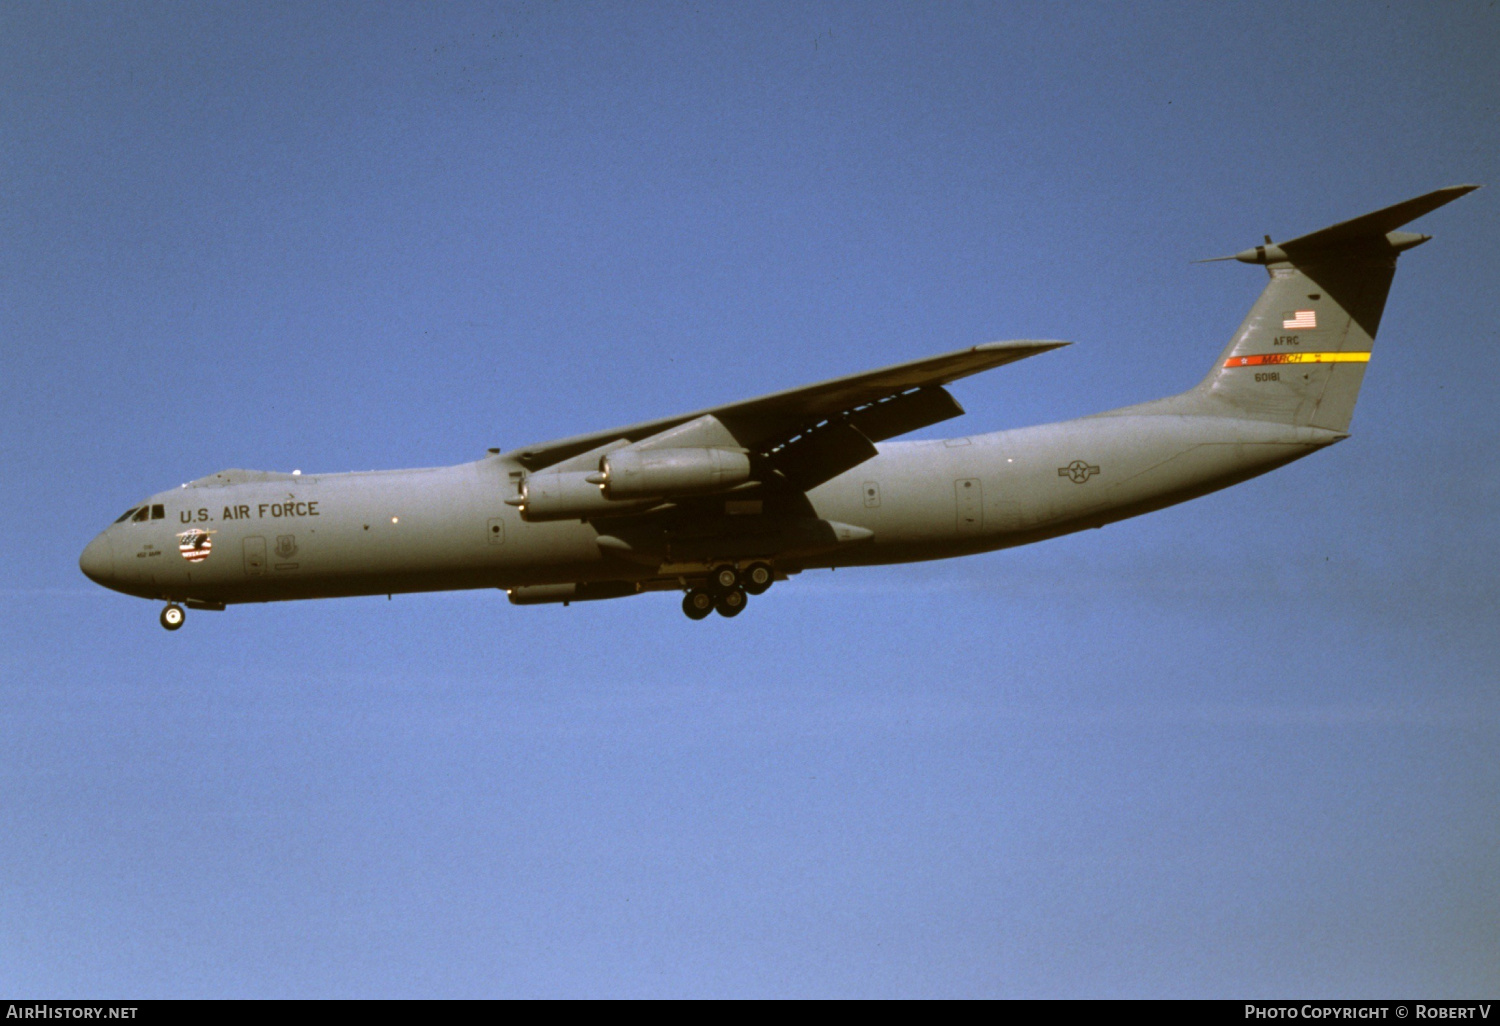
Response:
MULTIPOLYGON (((756 558, 782 573, 939 560, 1024 544, 1136 516, 1263 474, 1340 432, 1222 416, 1120 410, 986 435, 879 446, 879 454, 807 494, 818 520, 852 542, 784 542, 756 558)), ((160 519, 120 522, 84 555, 86 573, 126 594, 201 603, 518 588, 702 574, 736 555, 699 540, 622 558, 600 544, 612 520, 532 524, 507 506, 519 466, 506 456, 432 470, 357 474, 226 472, 152 496, 160 519), (196 532, 207 532, 207 555, 196 532)), ((734 495, 726 538, 776 534, 776 514, 734 495), (770 531, 770 534, 768 534, 770 531)))

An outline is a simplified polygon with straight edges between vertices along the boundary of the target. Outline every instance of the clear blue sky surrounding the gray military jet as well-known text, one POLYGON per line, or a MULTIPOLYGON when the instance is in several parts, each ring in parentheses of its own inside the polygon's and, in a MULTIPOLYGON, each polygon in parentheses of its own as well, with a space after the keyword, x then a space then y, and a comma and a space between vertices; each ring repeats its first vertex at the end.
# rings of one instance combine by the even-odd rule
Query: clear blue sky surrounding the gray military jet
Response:
MULTIPOLYGON (((0 9, 0 992, 1492 994, 1492 189, 1353 436, 1104 531, 670 596, 90 585, 226 466, 474 459, 1006 338, 1200 378, 1190 266, 1500 182, 1492 4, 0 9)), ((950 428, 951 424, 945 424, 950 428)))

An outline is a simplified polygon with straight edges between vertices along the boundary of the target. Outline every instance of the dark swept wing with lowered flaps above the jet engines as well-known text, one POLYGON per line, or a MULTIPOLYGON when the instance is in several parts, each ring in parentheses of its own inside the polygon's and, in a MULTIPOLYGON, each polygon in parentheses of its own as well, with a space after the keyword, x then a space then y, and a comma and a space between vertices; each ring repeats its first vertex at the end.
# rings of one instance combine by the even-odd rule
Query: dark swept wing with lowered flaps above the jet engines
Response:
POLYGON ((819 483, 814 478, 828 480, 873 456, 873 442, 882 438, 963 414, 963 406, 942 386, 1064 345, 1068 344, 987 342, 759 399, 526 446, 508 456, 536 471, 591 456, 602 447, 630 446, 672 432, 674 444, 728 444, 766 454, 789 478, 812 488, 819 483), (844 466, 828 472, 840 464, 844 466))

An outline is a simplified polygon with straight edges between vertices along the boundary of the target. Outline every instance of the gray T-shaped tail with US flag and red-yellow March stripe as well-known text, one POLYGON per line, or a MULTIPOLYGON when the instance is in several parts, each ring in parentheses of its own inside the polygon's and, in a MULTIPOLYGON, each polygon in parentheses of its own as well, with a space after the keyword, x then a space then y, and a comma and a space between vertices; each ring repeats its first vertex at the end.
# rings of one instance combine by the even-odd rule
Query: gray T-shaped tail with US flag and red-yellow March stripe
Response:
POLYGON ((1396 258, 1431 236, 1396 231, 1479 186, 1450 186, 1383 210, 1233 256, 1263 264, 1270 284, 1192 390, 1172 412, 1272 420, 1348 430, 1380 327, 1396 258))

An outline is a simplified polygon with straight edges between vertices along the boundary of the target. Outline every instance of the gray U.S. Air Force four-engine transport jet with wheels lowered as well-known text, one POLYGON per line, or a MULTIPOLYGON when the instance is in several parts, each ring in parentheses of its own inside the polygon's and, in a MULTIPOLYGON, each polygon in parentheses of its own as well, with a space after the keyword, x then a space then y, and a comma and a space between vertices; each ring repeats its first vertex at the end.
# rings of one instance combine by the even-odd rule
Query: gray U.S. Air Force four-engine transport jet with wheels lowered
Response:
POLYGON ((1396 231, 1438 189, 1233 256, 1270 282, 1203 381, 1065 423, 888 442, 957 417, 944 386, 1065 342, 990 342, 459 466, 226 470, 132 506, 88 543, 93 580, 183 606, 504 588, 516 604, 681 591, 735 616, 816 567, 986 552, 1206 495, 1348 435, 1396 231))

